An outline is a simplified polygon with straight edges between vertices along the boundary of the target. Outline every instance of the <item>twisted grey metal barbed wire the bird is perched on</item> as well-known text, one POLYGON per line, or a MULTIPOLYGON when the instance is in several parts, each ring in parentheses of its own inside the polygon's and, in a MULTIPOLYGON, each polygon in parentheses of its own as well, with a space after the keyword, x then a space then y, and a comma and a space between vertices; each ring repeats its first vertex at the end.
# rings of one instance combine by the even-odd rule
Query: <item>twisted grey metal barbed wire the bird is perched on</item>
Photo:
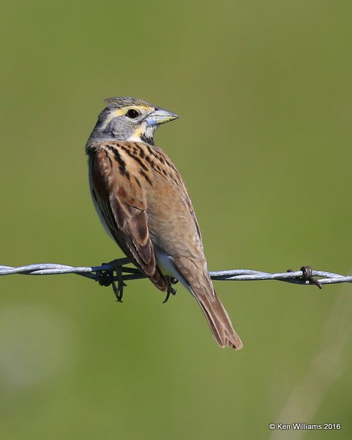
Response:
MULTIPOLYGON (((3 275, 58 275, 58 274, 77 274, 91 278, 100 283, 100 285, 110 285, 113 281, 131 281, 146 278, 136 267, 128 267, 130 261, 127 258, 102 263, 100 266, 74 267, 56 263, 39 263, 19 267, 0 265, 0 276, 3 275), (113 275, 113 272, 116 275, 113 275)), ((352 283, 352 276, 344 276, 325 272, 322 270, 312 270, 309 266, 303 266, 300 270, 287 270, 287 272, 278 272, 271 274, 258 270, 235 269, 219 270, 209 272, 210 278, 216 281, 264 281, 276 280, 285 283, 294 283, 301 285, 316 285, 320 289, 322 285, 336 283, 352 283), (314 277, 319 277, 316 279, 314 277)))

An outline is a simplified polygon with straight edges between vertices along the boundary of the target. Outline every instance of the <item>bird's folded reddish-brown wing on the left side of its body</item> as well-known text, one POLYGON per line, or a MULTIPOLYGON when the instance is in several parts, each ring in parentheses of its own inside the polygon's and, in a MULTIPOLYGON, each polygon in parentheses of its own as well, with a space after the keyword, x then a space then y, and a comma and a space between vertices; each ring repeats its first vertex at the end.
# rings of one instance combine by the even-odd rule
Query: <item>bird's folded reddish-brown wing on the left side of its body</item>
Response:
POLYGON ((113 144, 91 155, 89 168, 92 195, 111 236, 156 287, 166 291, 148 232, 145 189, 133 179, 113 144))

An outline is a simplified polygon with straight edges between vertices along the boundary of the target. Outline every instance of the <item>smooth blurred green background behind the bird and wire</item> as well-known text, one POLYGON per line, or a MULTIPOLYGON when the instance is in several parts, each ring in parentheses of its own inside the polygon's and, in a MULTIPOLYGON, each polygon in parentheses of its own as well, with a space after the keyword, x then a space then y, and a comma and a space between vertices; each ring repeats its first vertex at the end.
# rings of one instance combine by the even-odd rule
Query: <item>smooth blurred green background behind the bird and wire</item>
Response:
MULTIPOLYGON (((0 8, 1 264, 122 256, 84 154, 102 99, 122 95, 180 115, 156 143, 188 184, 210 270, 352 273, 350 2, 0 8)), ((74 275, 0 285, 2 439, 351 438, 350 285, 215 283, 239 352, 182 287, 162 305, 131 282, 121 305, 74 275)))

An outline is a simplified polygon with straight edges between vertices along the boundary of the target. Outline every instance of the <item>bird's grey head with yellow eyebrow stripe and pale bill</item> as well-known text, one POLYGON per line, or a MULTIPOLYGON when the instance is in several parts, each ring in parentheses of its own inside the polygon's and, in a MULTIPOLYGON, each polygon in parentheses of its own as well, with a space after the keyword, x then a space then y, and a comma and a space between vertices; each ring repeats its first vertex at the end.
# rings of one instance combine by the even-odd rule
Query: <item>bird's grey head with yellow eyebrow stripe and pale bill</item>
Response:
POLYGON ((131 140, 153 144, 153 133, 165 122, 177 119, 171 111, 136 98, 107 98, 92 135, 113 140, 131 140))

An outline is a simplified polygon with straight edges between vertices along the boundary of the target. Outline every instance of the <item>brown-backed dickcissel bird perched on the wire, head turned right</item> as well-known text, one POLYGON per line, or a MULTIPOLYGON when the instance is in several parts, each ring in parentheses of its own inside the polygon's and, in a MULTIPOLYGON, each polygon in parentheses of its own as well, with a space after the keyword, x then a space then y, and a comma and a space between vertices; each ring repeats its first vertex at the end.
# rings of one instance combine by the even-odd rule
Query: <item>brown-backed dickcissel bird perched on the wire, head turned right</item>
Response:
POLYGON ((178 116, 136 98, 105 102, 85 147, 91 196, 105 230, 162 292, 175 292, 173 278, 188 289, 220 347, 241 349, 212 286, 186 185, 154 144, 155 129, 178 116))

